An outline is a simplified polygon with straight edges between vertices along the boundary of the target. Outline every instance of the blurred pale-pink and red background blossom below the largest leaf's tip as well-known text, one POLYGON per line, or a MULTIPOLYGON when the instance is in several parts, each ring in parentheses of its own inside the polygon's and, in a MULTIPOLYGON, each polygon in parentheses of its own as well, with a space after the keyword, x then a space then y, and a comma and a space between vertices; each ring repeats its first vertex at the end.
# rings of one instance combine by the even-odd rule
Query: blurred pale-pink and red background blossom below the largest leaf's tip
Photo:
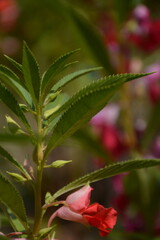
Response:
POLYGON ((90 121, 98 132, 102 145, 113 159, 120 157, 128 150, 124 133, 116 126, 119 111, 118 105, 110 104, 90 121))

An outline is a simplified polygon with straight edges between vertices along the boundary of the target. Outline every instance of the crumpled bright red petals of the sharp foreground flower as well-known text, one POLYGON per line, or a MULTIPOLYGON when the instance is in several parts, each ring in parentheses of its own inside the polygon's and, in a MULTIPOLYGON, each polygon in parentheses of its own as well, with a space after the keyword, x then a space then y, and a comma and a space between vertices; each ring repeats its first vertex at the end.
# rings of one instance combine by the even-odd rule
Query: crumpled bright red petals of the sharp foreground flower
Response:
POLYGON ((99 234, 102 237, 110 233, 117 220, 117 212, 112 207, 104 208, 98 203, 90 205, 83 211, 82 216, 89 225, 99 229, 99 234))

